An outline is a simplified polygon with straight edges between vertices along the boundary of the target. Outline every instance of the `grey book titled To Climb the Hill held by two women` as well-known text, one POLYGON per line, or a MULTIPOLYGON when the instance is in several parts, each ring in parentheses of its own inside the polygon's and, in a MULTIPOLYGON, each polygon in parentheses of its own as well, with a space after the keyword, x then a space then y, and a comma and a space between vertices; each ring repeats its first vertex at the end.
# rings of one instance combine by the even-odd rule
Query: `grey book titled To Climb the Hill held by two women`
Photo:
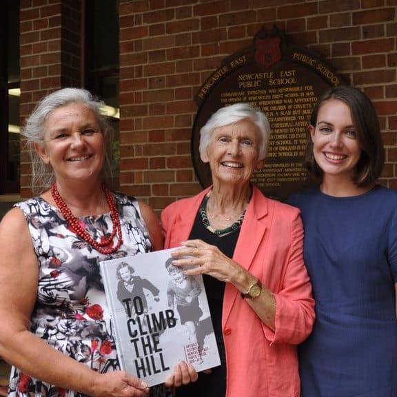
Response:
POLYGON ((220 365, 203 277, 172 265, 175 248, 100 263, 121 369, 158 385, 179 360, 220 365))

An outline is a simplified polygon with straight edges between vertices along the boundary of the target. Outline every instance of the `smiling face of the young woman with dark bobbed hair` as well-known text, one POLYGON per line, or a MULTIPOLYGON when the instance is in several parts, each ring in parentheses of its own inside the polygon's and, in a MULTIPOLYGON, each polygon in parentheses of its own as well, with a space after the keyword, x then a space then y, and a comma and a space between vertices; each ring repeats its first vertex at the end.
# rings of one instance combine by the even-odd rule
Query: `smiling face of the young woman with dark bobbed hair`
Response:
POLYGON ((349 178, 356 174, 361 148, 349 107, 330 99, 318 110, 316 126, 309 126, 314 159, 323 170, 323 179, 349 178))

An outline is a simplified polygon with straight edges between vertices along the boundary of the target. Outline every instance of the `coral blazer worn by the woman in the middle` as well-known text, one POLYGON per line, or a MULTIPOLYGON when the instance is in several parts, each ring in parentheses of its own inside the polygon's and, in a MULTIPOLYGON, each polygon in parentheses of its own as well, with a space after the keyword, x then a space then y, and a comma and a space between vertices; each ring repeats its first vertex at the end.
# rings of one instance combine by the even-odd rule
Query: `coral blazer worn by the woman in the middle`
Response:
MULTIPOLYGON (((163 210, 165 248, 189 238, 208 190, 163 210)), ((276 331, 261 321, 234 285, 226 284, 222 315, 226 396, 297 397, 301 387, 296 345, 312 331, 315 316, 299 210, 267 199, 254 187, 233 260, 274 292, 276 331)))

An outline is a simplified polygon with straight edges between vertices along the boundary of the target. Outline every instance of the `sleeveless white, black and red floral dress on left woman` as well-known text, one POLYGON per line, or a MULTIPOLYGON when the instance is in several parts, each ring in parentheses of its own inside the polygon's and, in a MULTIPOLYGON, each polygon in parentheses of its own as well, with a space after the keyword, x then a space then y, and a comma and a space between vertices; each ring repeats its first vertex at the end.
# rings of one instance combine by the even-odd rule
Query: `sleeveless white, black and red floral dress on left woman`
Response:
MULTIPOLYGON (((40 197, 17 203, 26 216, 39 279, 37 302, 32 312, 32 333, 54 349, 100 373, 119 370, 116 345, 110 325, 99 261, 149 252, 149 233, 136 199, 115 194, 119 209, 123 244, 110 255, 101 254, 68 228, 56 207, 40 197)), ((110 213, 84 216, 96 240, 112 232, 110 213)), ((163 385, 153 387, 150 396, 168 396, 163 385)), ((8 396, 82 396, 40 380, 12 367, 8 396)))

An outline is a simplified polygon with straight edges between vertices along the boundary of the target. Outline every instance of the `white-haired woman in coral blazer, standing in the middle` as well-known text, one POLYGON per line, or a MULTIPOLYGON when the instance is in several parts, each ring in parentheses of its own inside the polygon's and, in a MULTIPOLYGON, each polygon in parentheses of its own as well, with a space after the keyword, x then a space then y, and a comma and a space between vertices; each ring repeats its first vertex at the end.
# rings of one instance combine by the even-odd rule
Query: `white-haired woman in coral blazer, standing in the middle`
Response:
POLYGON ((187 275, 203 274, 221 366, 176 396, 298 396, 296 345, 312 331, 314 299, 298 209, 251 183, 270 127, 247 103, 217 110, 201 128, 212 185, 161 214, 165 247, 187 275), (192 267, 194 266, 194 267, 192 267))

